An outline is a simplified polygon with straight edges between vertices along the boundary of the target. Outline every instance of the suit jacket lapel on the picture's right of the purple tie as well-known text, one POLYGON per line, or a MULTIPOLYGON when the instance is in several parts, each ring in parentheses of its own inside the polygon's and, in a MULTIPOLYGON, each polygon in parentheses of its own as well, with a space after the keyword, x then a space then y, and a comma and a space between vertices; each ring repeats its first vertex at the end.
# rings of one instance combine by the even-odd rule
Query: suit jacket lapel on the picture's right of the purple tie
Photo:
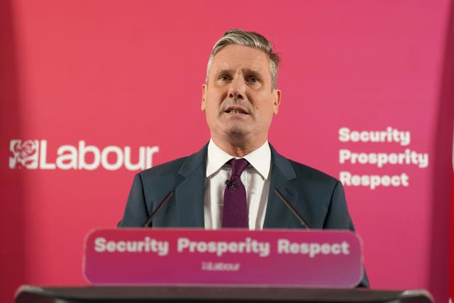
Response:
POLYGON ((279 155, 274 148, 271 148, 271 180, 270 192, 268 194, 267 211, 265 214, 264 228, 301 228, 301 224, 285 206, 280 198, 275 193, 275 189, 294 206, 300 214, 303 214, 303 205, 299 197, 300 194, 297 187, 292 186, 292 180, 297 180, 297 175, 294 172, 289 160, 279 155))

